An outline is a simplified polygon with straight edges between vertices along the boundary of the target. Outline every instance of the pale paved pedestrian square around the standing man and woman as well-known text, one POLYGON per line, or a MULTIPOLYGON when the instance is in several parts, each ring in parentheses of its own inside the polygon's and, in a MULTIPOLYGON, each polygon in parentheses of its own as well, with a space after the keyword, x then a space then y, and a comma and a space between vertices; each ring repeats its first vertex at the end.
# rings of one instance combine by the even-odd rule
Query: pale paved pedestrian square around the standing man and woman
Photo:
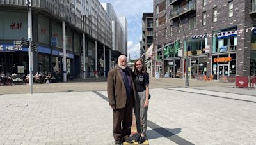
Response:
MULTIPOLYGON (((255 144, 255 90, 230 89, 150 89, 149 144, 255 144)), ((107 100, 105 90, 0 95, 0 144, 114 144, 107 100)))

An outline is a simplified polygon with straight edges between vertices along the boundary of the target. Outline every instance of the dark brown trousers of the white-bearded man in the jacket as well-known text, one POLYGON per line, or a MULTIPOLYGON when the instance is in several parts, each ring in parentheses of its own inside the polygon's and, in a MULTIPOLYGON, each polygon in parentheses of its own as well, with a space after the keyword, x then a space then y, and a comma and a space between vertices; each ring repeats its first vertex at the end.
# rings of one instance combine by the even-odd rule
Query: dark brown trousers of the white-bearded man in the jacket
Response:
POLYGON ((131 96, 131 101, 128 101, 124 108, 113 110, 113 135, 115 142, 122 141, 122 137, 127 139, 131 134, 133 107, 132 97, 133 95, 131 96))

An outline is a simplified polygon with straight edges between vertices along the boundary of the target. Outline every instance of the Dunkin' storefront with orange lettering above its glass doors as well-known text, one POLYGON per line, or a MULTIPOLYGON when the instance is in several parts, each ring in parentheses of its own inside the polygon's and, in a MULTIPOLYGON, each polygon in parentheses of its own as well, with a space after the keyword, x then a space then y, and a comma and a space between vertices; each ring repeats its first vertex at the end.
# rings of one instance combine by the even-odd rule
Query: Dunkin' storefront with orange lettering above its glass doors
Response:
POLYGON ((236 53, 212 56, 213 79, 228 81, 229 78, 236 76, 236 53))

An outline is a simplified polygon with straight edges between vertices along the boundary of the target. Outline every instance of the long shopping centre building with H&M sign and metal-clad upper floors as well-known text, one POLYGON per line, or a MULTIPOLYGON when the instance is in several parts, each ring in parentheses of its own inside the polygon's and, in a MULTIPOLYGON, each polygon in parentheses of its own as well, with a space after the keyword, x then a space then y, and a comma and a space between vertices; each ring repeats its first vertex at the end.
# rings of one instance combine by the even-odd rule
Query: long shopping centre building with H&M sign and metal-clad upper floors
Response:
MULTIPOLYGON (((94 76, 95 71, 104 76, 115 65, 118 55, 125 53, 125 49, 127 52, 124 45, 113 50, 112 20, 98 0, 30 1, 31 39, 38 46, 38 52, 32 53, 34 74, 61 74, 66 62, 70 79, 94 76)), ((0 3, 0 71, 29 73, 28 48, 13 44, 28 39, 28 10, 24 0, 0 3)), ((119 35, 125 30, 121 32, 119 35)), ((122 41, 125 43, 127 38, 122 41)))

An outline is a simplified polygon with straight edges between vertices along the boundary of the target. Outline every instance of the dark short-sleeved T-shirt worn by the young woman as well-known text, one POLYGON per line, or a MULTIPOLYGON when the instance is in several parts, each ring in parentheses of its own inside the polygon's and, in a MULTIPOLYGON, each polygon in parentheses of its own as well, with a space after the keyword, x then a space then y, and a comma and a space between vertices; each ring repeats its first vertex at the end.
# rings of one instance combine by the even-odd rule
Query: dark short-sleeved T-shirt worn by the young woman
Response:
POLYGON ((134 85, 138 92, 146 90, 146 85, 149 84, 149 76, 147 72, 139 72, 137 75, 134 74, 134 85))

